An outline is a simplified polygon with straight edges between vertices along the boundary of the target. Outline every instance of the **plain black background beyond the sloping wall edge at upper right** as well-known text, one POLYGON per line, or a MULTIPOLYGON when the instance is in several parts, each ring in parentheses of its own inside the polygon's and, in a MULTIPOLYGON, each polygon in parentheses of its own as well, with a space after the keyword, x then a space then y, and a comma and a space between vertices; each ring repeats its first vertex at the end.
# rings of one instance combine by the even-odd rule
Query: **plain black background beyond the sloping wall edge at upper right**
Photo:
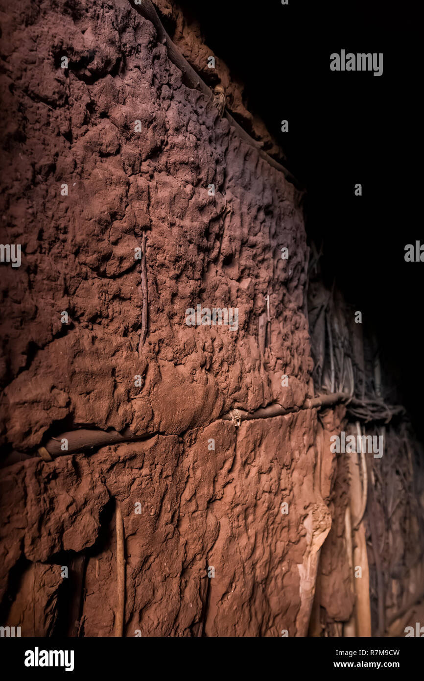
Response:
MULTIPOLYGON (((417 429, 421 415, 421 281, 406 244, 419 213, 422 42, 419 3, 182 0, 206 44, 246 84, 248 108, 280 142, 307 189, 306 231, 325 270, 365 322, 417 429), (383 74, 331 72, 330 54, 382 52, 383 74), (289 121, 289 133, 280 121, 289 121), (354 187, 361 183, 363 195, 354 187)), ((421 201, 420 201, 421 203, 421 201)), ((421 437, 422 437, 421 430, 421 437)))

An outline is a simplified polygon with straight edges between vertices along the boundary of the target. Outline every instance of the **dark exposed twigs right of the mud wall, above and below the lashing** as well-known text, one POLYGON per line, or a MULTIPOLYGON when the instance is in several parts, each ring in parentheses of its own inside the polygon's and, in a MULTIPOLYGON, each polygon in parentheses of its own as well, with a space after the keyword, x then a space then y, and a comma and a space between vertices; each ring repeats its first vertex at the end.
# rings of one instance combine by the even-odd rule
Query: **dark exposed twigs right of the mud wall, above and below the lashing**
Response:
MULTIPOLYGON (((420 458, 419 445, 408 431, 406 410, 387 398, 393 382, 380 364, 378 339, 366 319, 364 324, 355 323, 353 308, 335 285, 325 287, 319 271, 323 248, 318 251, 312 244, 311 251, 308 316, 315 390, 348 392, 348 421, 361 422, 363 434, 368 430, 368 434, 384 436, 384 456, 365 457, 361 503, 353 501, 367 530, 374 635, 389 631, 389 635, 402 635, 404 617, 412 616, 411 609, 424 595, 422 452, 420 458), (364 494, 366 488, 368 494, 364 494)), ((353 424, 344 427, 348 430, 353 424)), ((354 486, 351 491, 360 494, 354 486)), ((347 534, 350 537, 350 530, 347 534)))

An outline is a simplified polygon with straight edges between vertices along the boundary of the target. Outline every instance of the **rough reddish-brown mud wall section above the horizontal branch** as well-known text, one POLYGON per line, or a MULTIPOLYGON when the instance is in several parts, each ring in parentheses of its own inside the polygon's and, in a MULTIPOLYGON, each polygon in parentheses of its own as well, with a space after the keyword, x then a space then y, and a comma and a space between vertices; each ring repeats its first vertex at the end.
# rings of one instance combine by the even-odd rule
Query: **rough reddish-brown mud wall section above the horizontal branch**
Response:
POLYGON ((71 6, 74 18, 42 3, 29 25, 13 13, 5 22, 14 131, 5 140, 3 240, 22 242, 25 254, 20 268, 3 266, 7 441, 34 447, 69 415, 99 428, 180 433, 233 406, 301 404, 311 360, 296 191, 182 85, 150 22, 124 2, 71 6), (134 249, 143 230, 149 328, 139 358, 134 249), (238 332, 186 326, 197 303, 238 307, 238 332))

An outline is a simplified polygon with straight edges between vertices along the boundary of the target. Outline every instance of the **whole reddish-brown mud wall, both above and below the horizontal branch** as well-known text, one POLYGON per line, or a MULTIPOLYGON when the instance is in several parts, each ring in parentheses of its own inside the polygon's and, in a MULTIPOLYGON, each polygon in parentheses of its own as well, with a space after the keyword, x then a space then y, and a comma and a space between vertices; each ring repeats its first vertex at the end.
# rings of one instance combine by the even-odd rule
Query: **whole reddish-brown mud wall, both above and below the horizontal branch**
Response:
POLYGON ((4 462, 78 426, 148 437, 3 469, 1 624, 74 626, 61 567, 84 554, 78 631, 113 635, 118 500, 125 635, 304 636, 336 465, 316 411, 219 419, 313 395, 299 194, 127 1, 3 3, 1 18, 1 241, 22 244, 20 268, 1 264, 4 462), (238 330, 186 326, 197 304, 238 308, 238 330))

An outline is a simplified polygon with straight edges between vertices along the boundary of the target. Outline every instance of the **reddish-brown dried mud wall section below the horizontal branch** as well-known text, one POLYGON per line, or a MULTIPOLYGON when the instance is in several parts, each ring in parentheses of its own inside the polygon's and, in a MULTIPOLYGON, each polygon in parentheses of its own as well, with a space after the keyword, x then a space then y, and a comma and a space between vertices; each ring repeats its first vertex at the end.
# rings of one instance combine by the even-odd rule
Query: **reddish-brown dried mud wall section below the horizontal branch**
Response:
POLYGON ((18 618, 22 635, 52 631, 57 618, 67 617, 63 599, 48 610, 52 592, 56 603, 62 588, 61 568, 88 548, 84 635, 113 635, 116 537, 107 521, 113 497, 126 537, 125 635, 279 636, 284 629, 306 635, 319 549, 331 526, 317 477, 316 427, 314 410, 238 429, 218 421, 184 438, 156 436, 90 458, 10 466, 2 542, 10 558, 1 565, 1 584, 4 591, 15 568, 20 586, 9 594, 6 623, 18 618), (12 503, 17 486, 22 501, 12 503), (31 507, 33 517, 24 507, 31 497, 43 504, 31 507), (31 593, 34 569, 41 605, 28 613, 22 592, 31 593))

